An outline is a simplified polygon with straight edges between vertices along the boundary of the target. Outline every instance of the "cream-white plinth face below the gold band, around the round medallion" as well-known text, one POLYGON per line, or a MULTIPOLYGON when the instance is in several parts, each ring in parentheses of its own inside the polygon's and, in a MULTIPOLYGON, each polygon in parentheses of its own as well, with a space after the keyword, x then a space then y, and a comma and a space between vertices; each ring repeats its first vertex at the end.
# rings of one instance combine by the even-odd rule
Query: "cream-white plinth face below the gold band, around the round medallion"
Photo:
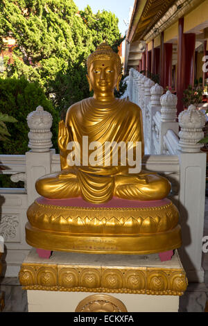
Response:
MULTIPOLYGON (((27 291, 29 312, 74 312, 92 292, 27 291)), ((107 293, 125 304, 128 312, 177 312, 179 296, 107 293)))

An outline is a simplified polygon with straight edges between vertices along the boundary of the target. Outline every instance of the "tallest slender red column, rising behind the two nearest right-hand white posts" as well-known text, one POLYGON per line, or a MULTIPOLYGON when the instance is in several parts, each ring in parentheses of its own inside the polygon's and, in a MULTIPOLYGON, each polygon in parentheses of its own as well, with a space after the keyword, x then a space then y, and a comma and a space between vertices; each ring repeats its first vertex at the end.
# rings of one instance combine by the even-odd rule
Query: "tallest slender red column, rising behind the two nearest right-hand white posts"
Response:
POLYGON ((183 110, 184 72, 185 72, 185 48, 184 48, 184 17, 178 20, 177 37, 177 114, 183 110))

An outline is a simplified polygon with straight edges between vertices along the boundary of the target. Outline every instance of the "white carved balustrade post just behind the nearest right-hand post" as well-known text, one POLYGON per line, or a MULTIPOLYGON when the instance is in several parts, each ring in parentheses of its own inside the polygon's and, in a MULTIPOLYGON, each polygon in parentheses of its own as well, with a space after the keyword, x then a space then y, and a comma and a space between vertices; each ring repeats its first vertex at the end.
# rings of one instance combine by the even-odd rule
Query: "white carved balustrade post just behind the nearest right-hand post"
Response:
POLYGON ((159 135, 159 153, 165 154, 164 149, 164 135, 168 130, 173 130, 178 135, 179 127, 176 122, 177 119, 177 96, 167 91, 166 94, 160 98, 161 103, 161 126, 159 135))

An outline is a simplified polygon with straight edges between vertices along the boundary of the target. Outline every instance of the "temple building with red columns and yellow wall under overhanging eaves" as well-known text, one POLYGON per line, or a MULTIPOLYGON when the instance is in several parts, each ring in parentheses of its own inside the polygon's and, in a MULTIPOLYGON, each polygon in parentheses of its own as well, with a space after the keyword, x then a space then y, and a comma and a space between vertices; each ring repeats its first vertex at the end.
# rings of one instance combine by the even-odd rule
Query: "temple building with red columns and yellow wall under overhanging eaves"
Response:
POLYGON ((180 113, 184 89, 206 88, 207 38, 207 0, 136 0, 125 39, 125 74, 134 67, 176 92, 180 113))

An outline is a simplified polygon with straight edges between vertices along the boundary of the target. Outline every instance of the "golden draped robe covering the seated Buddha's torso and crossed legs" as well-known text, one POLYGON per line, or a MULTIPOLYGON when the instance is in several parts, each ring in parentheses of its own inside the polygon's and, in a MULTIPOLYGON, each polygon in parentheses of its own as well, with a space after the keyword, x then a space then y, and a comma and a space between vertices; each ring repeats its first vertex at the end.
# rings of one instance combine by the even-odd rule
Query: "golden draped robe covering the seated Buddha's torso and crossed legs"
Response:
MULTIPOLYGON (((118 166, 112 165, 113 147, 110 148, 110 166, 106 165, 104 152, 96 157, 97 166, 83 165, 83 136, 88 136, 88 143, 99 141, 105 148, 107 141, 126 145, 132 141, 133 148, 137 141, 142 144, 144 155, 144 137, 140 108, 126 99, 114 98, 109 105, 98 103, 94 98, 86 98, 69 108, 65 121, 69 130, 70 141, 80 144, 80 165, 67 166, 66 157, 60 156, 66 169, 60 173, 46 175, 36 182, 37 192, 46 198, 73 198, 82 196, 90 203, 106 203, 116 196, 132 200, 157 200, 165 198, 170 189, 166 178, 156 173, 141 171, 129 173, 118 155, 118 166)), ((135 149, 135 148, 134 148, 135 149)), ((92 151, 89 151, 89 156, 92 151)), ((134 151, 135 154, 135 151, 134 151)), ((86 158, 86 157, 85 157, 86 158)), ((134 159, 135 159, 134 155, 134 159)))

